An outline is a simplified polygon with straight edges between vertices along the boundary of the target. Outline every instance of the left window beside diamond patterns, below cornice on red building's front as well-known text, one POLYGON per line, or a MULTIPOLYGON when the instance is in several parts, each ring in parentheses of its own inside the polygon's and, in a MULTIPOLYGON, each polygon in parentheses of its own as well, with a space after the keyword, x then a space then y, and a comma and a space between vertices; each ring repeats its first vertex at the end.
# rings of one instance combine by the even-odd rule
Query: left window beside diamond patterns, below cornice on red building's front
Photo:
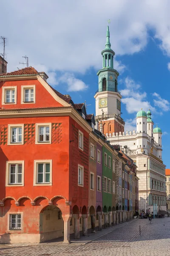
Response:
POLYGON ((24 125, 8 125, 8 145, 23 145, 24 144, 24 125))

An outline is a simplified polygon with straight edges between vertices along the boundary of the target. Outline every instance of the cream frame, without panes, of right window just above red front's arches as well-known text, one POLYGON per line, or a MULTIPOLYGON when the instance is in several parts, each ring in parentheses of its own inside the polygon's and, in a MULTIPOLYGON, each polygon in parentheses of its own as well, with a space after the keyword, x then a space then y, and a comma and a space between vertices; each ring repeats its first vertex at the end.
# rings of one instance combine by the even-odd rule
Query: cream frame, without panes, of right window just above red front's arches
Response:
POLYGON ((34 183, 33 186, 52 186, 52 160, 34 160, 34 183), (38 164, 49 163, 50 164, 50 181, 38 183, 38 164))

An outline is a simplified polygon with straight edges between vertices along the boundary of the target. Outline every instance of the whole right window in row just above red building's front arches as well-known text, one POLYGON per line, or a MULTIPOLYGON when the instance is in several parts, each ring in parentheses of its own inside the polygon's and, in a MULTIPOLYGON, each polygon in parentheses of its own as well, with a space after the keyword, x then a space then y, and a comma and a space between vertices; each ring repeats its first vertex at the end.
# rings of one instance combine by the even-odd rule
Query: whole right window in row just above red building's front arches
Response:
POLYGON ((52 185, 52 160, 34 160, 34 186, 52 185))

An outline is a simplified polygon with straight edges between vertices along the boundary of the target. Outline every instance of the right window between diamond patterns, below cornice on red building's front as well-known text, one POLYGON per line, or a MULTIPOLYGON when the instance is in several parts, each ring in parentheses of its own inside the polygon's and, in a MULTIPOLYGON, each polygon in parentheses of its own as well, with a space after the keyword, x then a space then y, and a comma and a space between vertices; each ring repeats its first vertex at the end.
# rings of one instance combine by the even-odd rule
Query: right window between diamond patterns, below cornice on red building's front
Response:
POLYGON ((36 124, 36 143, 51 144, 51 123, 36 124))

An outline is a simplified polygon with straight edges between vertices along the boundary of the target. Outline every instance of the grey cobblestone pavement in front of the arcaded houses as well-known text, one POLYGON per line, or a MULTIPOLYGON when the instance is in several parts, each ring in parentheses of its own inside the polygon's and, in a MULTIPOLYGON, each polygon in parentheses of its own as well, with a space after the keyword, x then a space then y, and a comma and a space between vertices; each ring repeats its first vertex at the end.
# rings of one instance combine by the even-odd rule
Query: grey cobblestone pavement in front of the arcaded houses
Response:
MULTIPOLYGON (((121 226, 121 224, 119 224, 121 226)), ((108 230, 109 231, 109 230, 108 230)), ((82 246, 0 245, 0 256, 170 256, 170 218, 139 219, 82 246), (141 235, 139 235, 141 225, 141 235)))

